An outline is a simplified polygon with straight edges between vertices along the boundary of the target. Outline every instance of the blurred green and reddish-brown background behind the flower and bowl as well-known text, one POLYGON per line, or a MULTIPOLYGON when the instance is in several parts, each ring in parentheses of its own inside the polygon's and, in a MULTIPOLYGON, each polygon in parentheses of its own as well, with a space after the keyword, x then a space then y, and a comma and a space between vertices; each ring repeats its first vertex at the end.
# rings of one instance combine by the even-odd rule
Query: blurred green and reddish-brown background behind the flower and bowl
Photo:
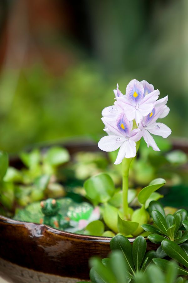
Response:
POLYGON ((103 134, 113 89, 134 78, 169 95, 188 136, 186 0, 0 2, 0 149, 103 134))

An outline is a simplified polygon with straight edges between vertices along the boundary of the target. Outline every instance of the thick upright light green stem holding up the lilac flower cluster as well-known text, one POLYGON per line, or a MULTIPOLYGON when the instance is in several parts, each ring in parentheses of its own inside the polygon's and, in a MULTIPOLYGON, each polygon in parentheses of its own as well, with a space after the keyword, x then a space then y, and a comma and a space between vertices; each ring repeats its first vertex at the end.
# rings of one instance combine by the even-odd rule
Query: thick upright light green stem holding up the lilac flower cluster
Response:
MULTIPOLYGON (((138 151, 140 141, 136 143, 136 149, 138 151)), ((133 158, 123 158, 122 161, 122 175, 123 175, 123 216, 128 218, 128 173, 133 158)))

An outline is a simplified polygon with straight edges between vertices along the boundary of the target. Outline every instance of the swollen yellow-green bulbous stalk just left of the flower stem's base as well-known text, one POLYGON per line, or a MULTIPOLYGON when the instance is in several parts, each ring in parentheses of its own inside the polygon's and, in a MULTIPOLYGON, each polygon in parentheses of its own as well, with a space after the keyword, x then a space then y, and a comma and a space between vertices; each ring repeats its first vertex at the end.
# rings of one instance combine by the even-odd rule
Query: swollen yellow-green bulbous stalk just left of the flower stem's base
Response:
POLYGON ((115 233, 118 233, 118 208, 105 204, 103 211, 105 224, 115 233))

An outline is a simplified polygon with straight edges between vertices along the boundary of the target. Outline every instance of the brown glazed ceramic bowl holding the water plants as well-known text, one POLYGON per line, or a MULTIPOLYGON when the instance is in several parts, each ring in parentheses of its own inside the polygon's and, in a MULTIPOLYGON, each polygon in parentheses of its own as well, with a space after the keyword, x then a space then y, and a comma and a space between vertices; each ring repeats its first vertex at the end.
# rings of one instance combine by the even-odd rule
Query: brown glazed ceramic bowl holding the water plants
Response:
MULTIPOLYGON (((175 145, 188 152, 188 147, 175 145)), ((70 154, 96 151, 87 143, 67 146, 70 154)), ((19 167, 18 159, 12 165, 19 167)), ((77 282, 89 279, 88 259, 106 257, 110 251, 108 237, 78 235, 53 229, 46 225, 15 221, 0 216, 0 276, 9 282, 77 282), (12 280, 12 281, 11 281, 12 280)), ((129 239, 130 242, 134 238, 129 239)), ((148 241, 147 249, 156 249, 148 241)))

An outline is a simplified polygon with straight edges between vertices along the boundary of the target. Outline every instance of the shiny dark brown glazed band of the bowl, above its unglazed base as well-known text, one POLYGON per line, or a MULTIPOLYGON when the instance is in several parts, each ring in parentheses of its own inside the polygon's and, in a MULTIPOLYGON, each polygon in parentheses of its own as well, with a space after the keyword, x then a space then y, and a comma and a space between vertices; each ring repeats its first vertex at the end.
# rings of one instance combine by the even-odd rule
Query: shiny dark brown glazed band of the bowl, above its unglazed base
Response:
MULTIPOLYGON (((88 259, 107 257, 110 240, 0 216, 0 257, 44 273, 89 279, 88 259)), ((147 250, 158 247, 150 241, 147 244, 147 250)))

